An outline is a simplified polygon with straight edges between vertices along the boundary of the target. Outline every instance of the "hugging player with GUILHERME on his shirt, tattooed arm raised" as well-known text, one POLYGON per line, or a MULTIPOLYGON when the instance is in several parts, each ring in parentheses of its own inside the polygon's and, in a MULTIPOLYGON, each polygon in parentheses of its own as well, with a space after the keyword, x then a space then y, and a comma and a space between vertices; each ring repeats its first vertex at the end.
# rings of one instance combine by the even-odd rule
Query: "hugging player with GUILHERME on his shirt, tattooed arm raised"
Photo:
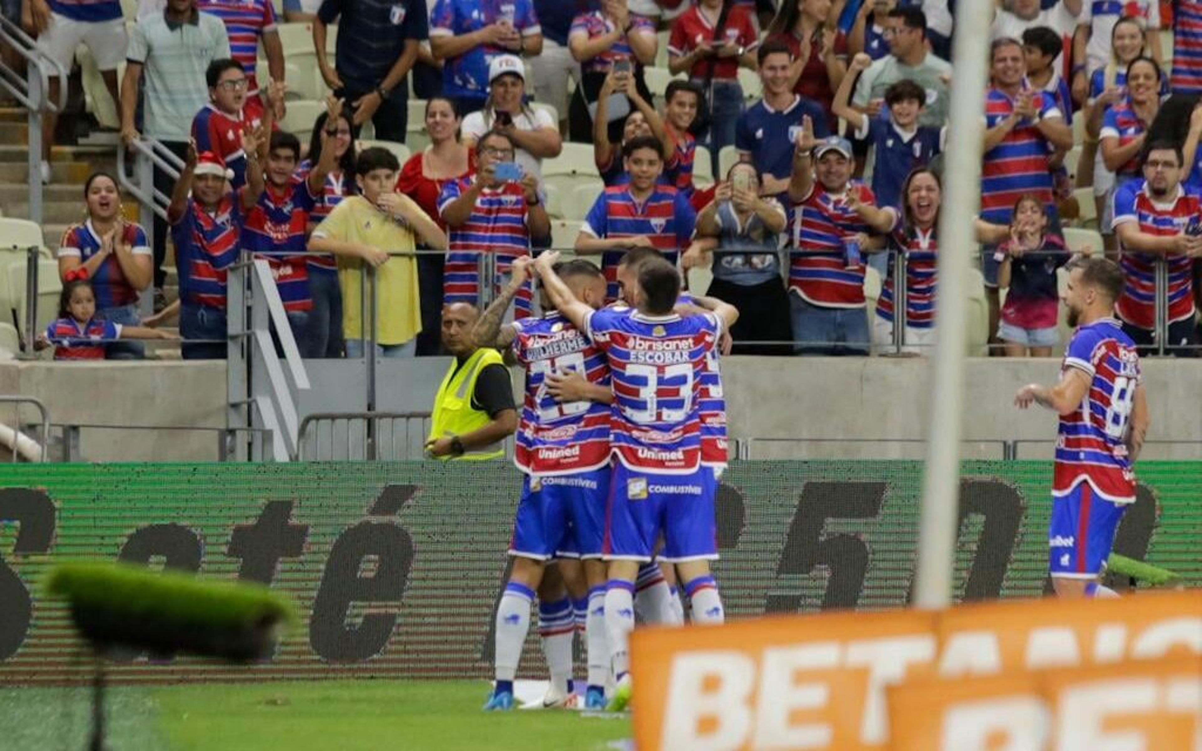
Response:
MULTIPOLYGON (((501 320, 526 279, 529 257, 513 261, 512 279, 472 328, 476 346, 510 348, 526 369, 525 399, 518 424, 513 463, 525 475, 518 502, 510 555, 513 567, 496 610, 496 686, 484 709, 513 705, 513 677, 530 624, 530 602, 553 558, 579 558, 588 583, 585 639, 588 689, 585 708, 605 707, 609 655, 605 639, 605 564, 601 543, 609 490, 609 368, 605 356, 579 329, 553 308, 541 318, 501 326, 501 320), (583 399, 563 398, 566 374, 584 376, 583 399)), ((575 300, 591 310, 605 302, 605 276, 588 261, 571 261, 558 276, 575 300)), ((551 601, 540 590, 540 628, 552 673, 545 707, 563 705, 571 696, 572 628, 566 639, 555 616, 571 603, 551 601), (555 654, 555 646, 566 651, 555 654), (566 668, 566 669, 565 669, 566 668)), ((560 616, 559 620, 563 620, 560 616)))

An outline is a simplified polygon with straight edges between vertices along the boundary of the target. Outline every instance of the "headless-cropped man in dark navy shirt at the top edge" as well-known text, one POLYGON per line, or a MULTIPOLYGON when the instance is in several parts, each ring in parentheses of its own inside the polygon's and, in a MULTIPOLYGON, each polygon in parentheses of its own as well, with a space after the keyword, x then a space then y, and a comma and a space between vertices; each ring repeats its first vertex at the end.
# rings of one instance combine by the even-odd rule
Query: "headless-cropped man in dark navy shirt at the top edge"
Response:
POLYGON ((334 96, 353 109, 355 132, 371 120, 380 141, 405 142, 409 68, 429 36, 426 0, 323 0, 313 23, 317 66, 334 96), (326 26, 338 23, 334 67, 326 58, 326 26))

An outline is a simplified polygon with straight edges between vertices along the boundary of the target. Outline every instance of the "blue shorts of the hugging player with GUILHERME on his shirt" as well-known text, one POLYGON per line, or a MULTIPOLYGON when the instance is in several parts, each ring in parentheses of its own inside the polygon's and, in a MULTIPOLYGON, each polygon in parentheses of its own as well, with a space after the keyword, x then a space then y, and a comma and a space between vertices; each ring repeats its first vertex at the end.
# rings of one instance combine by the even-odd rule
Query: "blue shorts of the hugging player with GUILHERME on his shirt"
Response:
POLYGON ((522 481, 510 555, 600 558, 609 467, 522 481))

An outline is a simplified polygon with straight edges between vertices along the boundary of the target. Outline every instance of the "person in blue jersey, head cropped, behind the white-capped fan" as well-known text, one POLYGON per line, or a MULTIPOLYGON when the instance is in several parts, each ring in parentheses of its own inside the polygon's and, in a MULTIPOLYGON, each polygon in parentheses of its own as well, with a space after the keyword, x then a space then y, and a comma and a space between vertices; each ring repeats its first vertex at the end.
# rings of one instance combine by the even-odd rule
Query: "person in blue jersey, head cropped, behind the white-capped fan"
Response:
POLYGON ((542 52, 542 28, 531 0, 438 0, 430 17, 430 53, 444 60, 442 93, 459 114, 488 99, 489 64, 496 55, 542 52))

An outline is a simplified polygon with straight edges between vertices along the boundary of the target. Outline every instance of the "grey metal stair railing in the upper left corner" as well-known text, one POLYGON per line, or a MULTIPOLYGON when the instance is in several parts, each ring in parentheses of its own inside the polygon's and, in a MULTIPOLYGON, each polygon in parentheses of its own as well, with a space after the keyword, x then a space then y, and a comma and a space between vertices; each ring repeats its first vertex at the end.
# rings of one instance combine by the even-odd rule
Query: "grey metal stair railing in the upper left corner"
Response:
POLYGON ((37 49, 32 37, 8 18, 0 17, 0 43, 16 50, 25 61, 25 77, 0 59, 0 87, 28 113, 29 121, 29 219, 42 223, 42 117, 60 113, 67 106, 67 71, 37 49), (58 101, 49 101, 50 78, 59 79, 58 101))

